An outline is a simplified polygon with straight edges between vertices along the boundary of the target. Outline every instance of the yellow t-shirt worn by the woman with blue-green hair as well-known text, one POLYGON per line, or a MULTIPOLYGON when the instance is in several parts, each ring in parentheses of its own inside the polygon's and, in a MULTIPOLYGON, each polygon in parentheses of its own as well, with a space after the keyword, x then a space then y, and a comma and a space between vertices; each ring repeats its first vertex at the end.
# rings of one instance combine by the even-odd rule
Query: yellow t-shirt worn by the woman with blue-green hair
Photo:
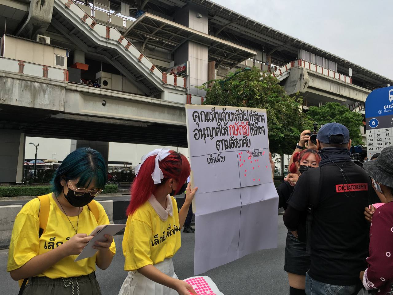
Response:
MULTIPOLYGON (((75 229, 78 223, 78 234, 90 234, 97 225, 109 224, 108 216, 103 206, 99 203, 97 203, 99 210, 98 223, 88 206, 83 207, 82 212, 79 214, 78 222, 78 216, 68 216, 70 219, 68 221, 67 216, 57 206, 52 194, 49 194, 49 199, 48 223, 45 232, 40 238, 38 237, 40 227, 38 217, 40 200, 38 198, 26 203, 15 218, 8 251, 7 271, 18 269, 34 256, 46 253, 73 237, 75 230, 72 228, 70 221, 75 229)), ((114 242, 110 246, 110 251, 113 254, 116 253, 114 242)), ((96 256, 97 253, 90 258, 77 262, 73 262, 77 255, 67 256, 37 275, 37 277, 68 278, 88 275, 95 271, 96 256)))

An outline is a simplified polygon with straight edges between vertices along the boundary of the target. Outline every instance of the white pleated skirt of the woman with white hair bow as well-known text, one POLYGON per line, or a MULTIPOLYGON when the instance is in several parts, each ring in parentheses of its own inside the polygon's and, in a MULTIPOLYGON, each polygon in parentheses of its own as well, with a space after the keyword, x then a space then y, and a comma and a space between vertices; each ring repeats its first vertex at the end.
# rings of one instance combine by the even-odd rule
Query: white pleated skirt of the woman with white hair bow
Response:
MULTIPOLYGON (((163 262, 154 264, 154 267, 169 277, 178 278, 174 273, 172 258, 166 258, 163 262)), ((178 295, 178 293, 174 289, 153 282, 138 271, 129 271, 119 295, 178 295)))

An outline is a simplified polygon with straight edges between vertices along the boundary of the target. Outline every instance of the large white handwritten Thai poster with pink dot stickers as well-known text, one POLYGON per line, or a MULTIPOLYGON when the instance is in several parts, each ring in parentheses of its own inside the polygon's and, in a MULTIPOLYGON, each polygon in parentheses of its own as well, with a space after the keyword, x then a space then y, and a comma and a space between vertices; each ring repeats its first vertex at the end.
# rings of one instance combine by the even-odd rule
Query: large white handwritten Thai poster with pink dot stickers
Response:
POLYGON ((186 105, 198 275, 277 247, 266 110, 186 105))

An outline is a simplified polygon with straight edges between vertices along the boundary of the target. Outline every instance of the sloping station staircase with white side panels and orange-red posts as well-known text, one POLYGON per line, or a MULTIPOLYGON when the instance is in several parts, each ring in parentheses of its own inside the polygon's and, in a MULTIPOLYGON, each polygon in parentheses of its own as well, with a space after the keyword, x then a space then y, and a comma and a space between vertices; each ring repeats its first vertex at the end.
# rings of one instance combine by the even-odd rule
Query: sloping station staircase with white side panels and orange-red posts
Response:
POLYGON ((98 24, 72 0, 55 0, 51 24, 86 55, 118 68, 147 96, 184 103, 184 77, 161 72, 116 28, 98 24))

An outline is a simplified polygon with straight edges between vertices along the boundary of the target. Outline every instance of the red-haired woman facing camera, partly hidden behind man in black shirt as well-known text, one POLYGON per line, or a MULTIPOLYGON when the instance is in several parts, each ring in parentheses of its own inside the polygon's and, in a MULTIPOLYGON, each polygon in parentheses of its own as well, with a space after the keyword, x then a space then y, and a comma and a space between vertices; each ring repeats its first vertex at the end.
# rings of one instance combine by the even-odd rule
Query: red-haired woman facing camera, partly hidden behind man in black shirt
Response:
MULTIPOLYGON (((314 149, 303 149, 294 153, 289 166, 291 172, 277 188, 279 208, 286 210, 288 199, 294 190, 299 175, 319 166, 321 157, 314 149)), ((306 272, 310 268, 310 255, 306 252, 306 243, 301 242, 297 232, 288 231, 285 245, 284 270, 288 273, 289 295, 305 295, 306 272)))

